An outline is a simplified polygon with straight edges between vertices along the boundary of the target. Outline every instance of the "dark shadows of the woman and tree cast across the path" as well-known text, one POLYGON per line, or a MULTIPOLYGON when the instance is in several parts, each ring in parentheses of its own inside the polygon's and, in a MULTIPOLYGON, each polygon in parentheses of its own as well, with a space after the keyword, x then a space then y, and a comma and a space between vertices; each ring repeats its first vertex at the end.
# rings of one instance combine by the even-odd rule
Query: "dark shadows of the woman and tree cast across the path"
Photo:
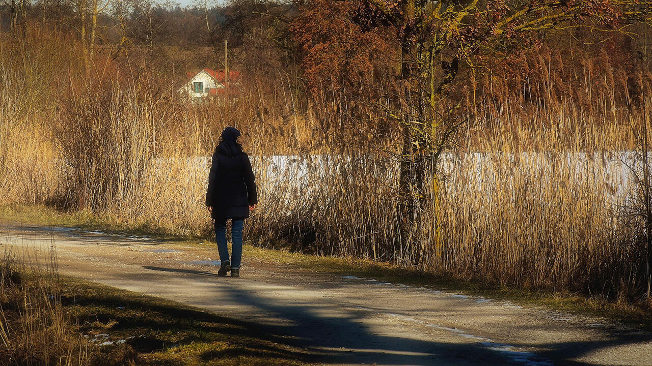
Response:
MULTIPOLYGON (((191 276, 205 275, 202 271, 177 268, 143 268, 191 276)), ((439 332, 437 335, 436 331, 429 334, 428 330, 416 329, 418 324, 387 320, 383 318, 387 314, 374 313, 371 309, 347 308, 338 302, 293 300, 291 295, 283 295, 283 286, 278 289, 278 298, 271 298, 259 296, 256 294, 259 291, 244 289, 239 286, 239 281, 220 281, 216 301, 229 298, 243 309, 255 309, 249 319, 252 327, 258 326, 265 333, 280 335, 286 345, 306 350, 310 356, 302 355, 303 361, 357 365, 550 365, 545 363, 549 358, 556 360, 555 365, 580 366, 590 363, 572 361, 572 358, 608 346, 652 340, 650 335, 642 335, 605 341, 552 343, 546 345, 550 351, 538 355, 514 349, 500 350, 486 342, 469 343, 468 339, 458 339, 454 334, 441 335, 439 332), (256 317, 269 319, 269 322, 258 324, 256 317), (373 326, 369 326, 370 318, 375 318, 373 326), (383 321, 387 322, 386 327, 383 327, 383 321)), ((230 316, 228 313, 224 315, 230 316)), ((239 317, 240 314, 231 316, 239 317)))

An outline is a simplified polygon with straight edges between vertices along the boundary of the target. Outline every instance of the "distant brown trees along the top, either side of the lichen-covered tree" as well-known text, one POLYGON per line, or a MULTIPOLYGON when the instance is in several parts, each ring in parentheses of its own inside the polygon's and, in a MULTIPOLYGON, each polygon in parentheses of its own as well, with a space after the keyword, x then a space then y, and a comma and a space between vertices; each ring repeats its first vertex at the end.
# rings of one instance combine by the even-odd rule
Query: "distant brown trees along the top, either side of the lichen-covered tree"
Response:
MULTIPOLYGON (((177 83, 185 78, 186 72, 205 67, 223 68, 224 40, 227 40, 228 60, 233 68, 243 71, 245 77, 259 79, 261 75, 280 72, 301 76, 308 81, 317 78, 346 84, 346 81, 336 79, 344 77, 350 80, 351 74, 357 72, 355 49, 348 49, 355 39, 344 38, 341 44, 331 42, 330 49, 322 52, 323 59, 317 61, 310 51, 306 51, 306 33, 310 33, 312 38, 342 36, 331 29, 323 33, 314 31, 315 27, 328 29, 346 25, 338 23, 340 12, 336 12, 336 5, 331 3, 231 0, 218 6, 216 2, 198 0, 181 7, 173 1, 154 0, 2 0, 0 31, 5 36, 22 38, 29 31, 60 35, 80 42, 84 49, 89 49, 91 59, 93 49, 108 53, 112 61, 121 61, 121 57, 128 55, 131 62, 140 60, 147 63, 166 81, 174 75, 177 83), (322 14, 323 18, 313 14, 322 14), (306 18, 310 23, 306 24, 306 18), (316 62, 318 65, 314 64, 316 62), (342 69, 342 64, 346 70, 342 69), (316 75, 319 73, 327 75, 316 75)), ((361 42, 371 43, 370 48, 381 49, 384 53, 370 53, 372 57, 364 63, 370 63, 368 66, 379 79, 387 80, 388 84, 395 83, 396 76, 387 70, 400 69, 400 45, 393 42, 391 36, 382 35, 388 28, 387 21, 376 17, 370 23, 370 10, 360 5, 364 1, 344 3, 352 4, 353 10, 349 9, 349 12, 357 14, 351 21, 357 25, 360 34, 349 32, 351 38, 381 35, 362 38, 361 42)), ((479 66, 477 69, 481 74, 471 81, 475 84, 473 87, 482 88, 481 83, 475 81, 488 75, 503 74, 507 76, 506 81, 520 81, 524 74, 539 74, 540 70, 528 68, 523 63, 538 55, 539 49, 550 49, 559 54, 559 59, 551 63, 557 64, 558 70, 580 70, 586 60, 599 64, 596 61, 605 57, 619 59, 618 63, 604 63, 608 63, 613 72, 621 70, 630 75, 637 70, 649 70, 652 65, 652 31, 643 24, 608 36, 591 27, 579 27, 563 33, 542 34, 528 41, 532 53, 521 49, 512 59, 496 57, 492 54, 495 49, 478 53, 473 63, 479 66)), ((368 49, 359 47, 358 51, 362 54, 368 49)), ((124 66, 126 61, 121 64, 124 66)), ((572 71, 572 74, 576 79, 581 77, 577 72, 572 71)), ((299 79, 291 80, 297 81, 301 83, 299 79)), ((636 90, 630 91, 636 94, 636 90)), ((526 98, 534 102, 541 100, 531 89, 526 91, 526 98)))

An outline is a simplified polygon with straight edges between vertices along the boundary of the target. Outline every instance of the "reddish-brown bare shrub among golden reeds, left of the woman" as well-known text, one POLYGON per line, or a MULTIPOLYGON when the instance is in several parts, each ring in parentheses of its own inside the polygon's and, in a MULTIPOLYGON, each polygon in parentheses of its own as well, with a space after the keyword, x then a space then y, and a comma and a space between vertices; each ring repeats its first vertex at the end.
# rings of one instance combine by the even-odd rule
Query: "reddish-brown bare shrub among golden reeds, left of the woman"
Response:
MULTIPOLYGON (((151 98, 139 102, 135 88, 115 83, 71 87, 55 122, 63 155, 68 198, 76 208, 105 208, 143 181, 153 167, 156 124, 151 98), (149 123, 148 123, 149 122, 149 123)), ((151 172, 150 172, 151 173, 151 172)))

